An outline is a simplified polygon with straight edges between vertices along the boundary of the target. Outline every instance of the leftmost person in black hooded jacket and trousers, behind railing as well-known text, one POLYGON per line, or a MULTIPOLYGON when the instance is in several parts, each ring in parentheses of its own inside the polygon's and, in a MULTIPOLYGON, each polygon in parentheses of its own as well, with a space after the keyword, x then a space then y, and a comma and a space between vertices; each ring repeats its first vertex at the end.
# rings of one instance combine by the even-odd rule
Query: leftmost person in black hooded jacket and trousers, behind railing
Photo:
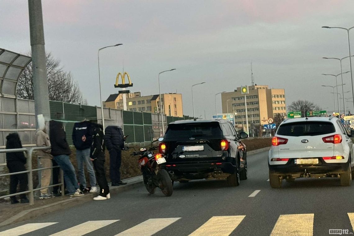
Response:
MULTIPOLYGON (((21 140, 17 133, 10 133, 6 136, 6 149, 22 148, 21 140)), ((23 152, 7 152, 6 165, 10 173, 26 171, 26 157, 23 152)), ((10 175, 10 194, 15 194, 17 191, 17 184, 19 182, 20 192, 27 191, 27 173, 10 175)), ((16 196, 12 196, 11 204, 19 203, 16 196)), ((21 194, 21 203, 27 203, 29 200, 26 194, 21 194)))

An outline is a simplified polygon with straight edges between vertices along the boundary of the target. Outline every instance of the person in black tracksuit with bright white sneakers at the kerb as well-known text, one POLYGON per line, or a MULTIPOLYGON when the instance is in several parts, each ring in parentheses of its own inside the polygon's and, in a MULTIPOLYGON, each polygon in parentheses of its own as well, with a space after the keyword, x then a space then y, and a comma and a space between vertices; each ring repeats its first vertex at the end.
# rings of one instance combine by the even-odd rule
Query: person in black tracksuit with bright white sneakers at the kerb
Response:
POLYGON ((92 123, 92 145, 90 150, 90 159, 95 167, 97 182, 99 185, 99 195, 93 200, 106 200, 110 198, 109 187, 104 170, 104 151, 103 126, 92 123))

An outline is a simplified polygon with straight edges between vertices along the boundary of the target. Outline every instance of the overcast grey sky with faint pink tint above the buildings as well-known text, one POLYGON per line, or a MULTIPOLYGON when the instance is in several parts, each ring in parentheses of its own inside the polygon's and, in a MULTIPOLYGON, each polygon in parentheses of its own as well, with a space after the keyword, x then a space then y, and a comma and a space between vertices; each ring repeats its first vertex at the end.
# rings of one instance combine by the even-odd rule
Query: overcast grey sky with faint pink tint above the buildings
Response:
MULTIPOLYGON (((73 73, 89 105, 99 105, 98 48, 122 43, 100 52, 103 100, 118 92, 123 67, 143 95, 157 94, 158 73, 176 68, 160 76, 161 92, 182 93, 184 114, 193 115, 191 85, 205 81, 194 87, 202 117, 215 111, 216 93, 251 85, 251 61, 256 84, 285 88, 287 104, 307 99, 333 110, 331 89, 321 85, 336 83, 321 74, 340 66, 321 57, 348 56, 348 39, 321 26, 354 26, 352 0, 42 0, 42 8, 46 52, 73 73)), ((0 47, 29 52, 27 1, 2 0, 0 16, 0 47)), ((354 29, 350 36, 354 45, 354 29)), ((351 91, 350 73, 343 80, 351 91)))

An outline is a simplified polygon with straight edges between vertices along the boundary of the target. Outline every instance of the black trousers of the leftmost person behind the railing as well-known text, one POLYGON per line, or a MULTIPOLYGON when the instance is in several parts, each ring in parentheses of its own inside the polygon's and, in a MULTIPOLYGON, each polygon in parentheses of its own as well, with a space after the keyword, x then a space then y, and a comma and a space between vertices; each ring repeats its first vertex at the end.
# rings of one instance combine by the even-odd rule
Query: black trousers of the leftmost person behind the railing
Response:
MULTIPOLYGON (((26 171, 24 163, 21 161, 8 161, 7 168, 10 173, 26 171)), ((27 173, 10 175, 10 194, 15 194, 17 192, 18 182, 20 186, 20 192, 27 191, 27 173)), ((12 196, 11 198, 16 199, 16 196, 12 196)), ((20 198, 26 198, 26 194, 21 194, 20 198)))

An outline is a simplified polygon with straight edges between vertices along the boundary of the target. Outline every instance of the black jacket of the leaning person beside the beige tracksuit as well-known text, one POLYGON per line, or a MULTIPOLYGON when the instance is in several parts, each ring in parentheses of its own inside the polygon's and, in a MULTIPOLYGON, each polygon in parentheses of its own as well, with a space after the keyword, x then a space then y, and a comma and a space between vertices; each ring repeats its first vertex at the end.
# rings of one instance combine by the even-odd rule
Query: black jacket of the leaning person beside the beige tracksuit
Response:
POLYGON ((53 156, 58 155, 70 155, 71 151, 69 144, 66 140, 65 131, 63 129, 63 123, 51 120, 49 123, 49 139, 52 144, 51 154, 53 156))

